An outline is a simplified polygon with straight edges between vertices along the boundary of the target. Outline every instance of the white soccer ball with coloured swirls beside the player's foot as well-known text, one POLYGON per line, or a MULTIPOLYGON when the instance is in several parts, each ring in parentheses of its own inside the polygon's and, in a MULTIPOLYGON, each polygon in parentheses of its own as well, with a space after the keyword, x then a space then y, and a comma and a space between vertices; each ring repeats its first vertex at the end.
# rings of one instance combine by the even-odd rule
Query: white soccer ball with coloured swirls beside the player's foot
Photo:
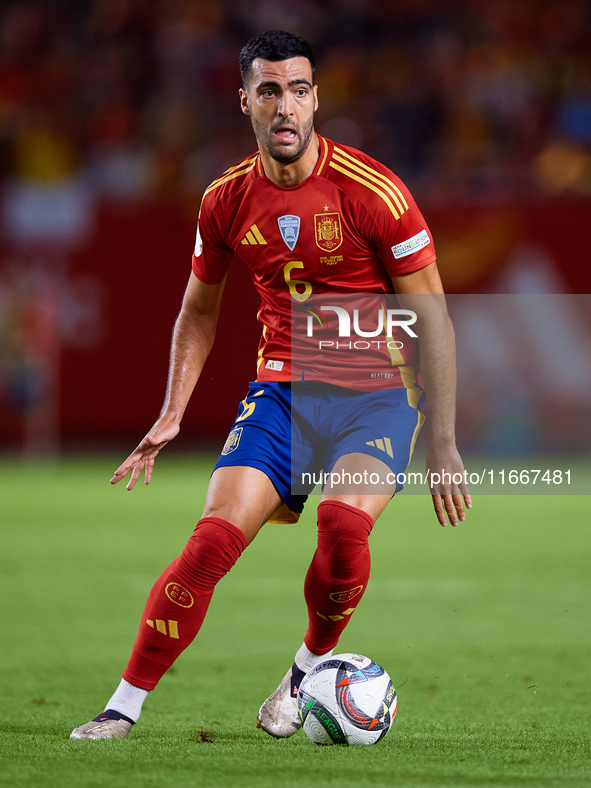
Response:
POLYGON ((315 744, 375 744, 396 716, 384 668, 361 654, 335 654, 306 673, 298 692, 304 733, 315 744))

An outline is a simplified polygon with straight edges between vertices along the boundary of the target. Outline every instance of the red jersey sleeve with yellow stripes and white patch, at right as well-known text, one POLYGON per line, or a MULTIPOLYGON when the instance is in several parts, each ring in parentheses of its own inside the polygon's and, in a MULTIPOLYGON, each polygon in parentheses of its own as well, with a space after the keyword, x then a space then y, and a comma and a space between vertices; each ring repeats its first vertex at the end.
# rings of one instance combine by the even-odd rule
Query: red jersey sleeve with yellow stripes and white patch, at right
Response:
POLYGON ((381 210, 373 214, 377 233, 375 245, 389 276, 400 276, 435 262, 435 246, 410 191, 393 173, 389 173, 389 179, 392 184, 390 204, 394 210, 382 202, 381 210))

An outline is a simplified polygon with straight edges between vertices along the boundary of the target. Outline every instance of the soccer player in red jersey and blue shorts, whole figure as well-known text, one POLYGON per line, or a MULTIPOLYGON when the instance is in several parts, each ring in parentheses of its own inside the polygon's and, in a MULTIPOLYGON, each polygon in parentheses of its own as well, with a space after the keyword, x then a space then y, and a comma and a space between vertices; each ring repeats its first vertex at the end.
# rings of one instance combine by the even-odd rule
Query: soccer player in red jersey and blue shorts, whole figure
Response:
MULTIPOLYGON (((314 131, 315 64, 306 41, 264 33, 243 48, 240 69, 241 108, 258 150, 205 192, 164 405, 111 482, 131 471, 131 490, 144 471, 148 484, 156 455, 179 432, 213 344, 235 254, 252 269, 261 298, 256 381, 215 466, 202 518, 150 592, 121 683, 102 714, 72 731, 75 739, 127 736, 148 692, 195 638, 216 583, 264 523, 297 520, 306 495, 293 491, 294 465, 343 472, 343 479, 375 472, 383 482, 379 494, 325 486, 318 505, 318 545, 304 586, 308 629, 258 715, 259 727, 272 736, 294 734, 299 683, 332 653, 365 591, 368 537, 396 492, 392 473, 409 461, 424 420, 424 388, 428 467, 463 472, 454 437, 453 329, 433 240, 412 196, 380 163, 314 131), (349 369, 347 377, 337 365, 326 376, 320 362, 292 380, 292 306, 316 295, 359 293, 396 293, 403 308, 416 308, 423 385, 416 358, 379 345, 373 372, 349 369), (421 298, 430 299, 427 309, 419 309, 421 298)), ((471 505, 465 485, 432 493, 441 525, 465 519, 464 506, 471 505)))

